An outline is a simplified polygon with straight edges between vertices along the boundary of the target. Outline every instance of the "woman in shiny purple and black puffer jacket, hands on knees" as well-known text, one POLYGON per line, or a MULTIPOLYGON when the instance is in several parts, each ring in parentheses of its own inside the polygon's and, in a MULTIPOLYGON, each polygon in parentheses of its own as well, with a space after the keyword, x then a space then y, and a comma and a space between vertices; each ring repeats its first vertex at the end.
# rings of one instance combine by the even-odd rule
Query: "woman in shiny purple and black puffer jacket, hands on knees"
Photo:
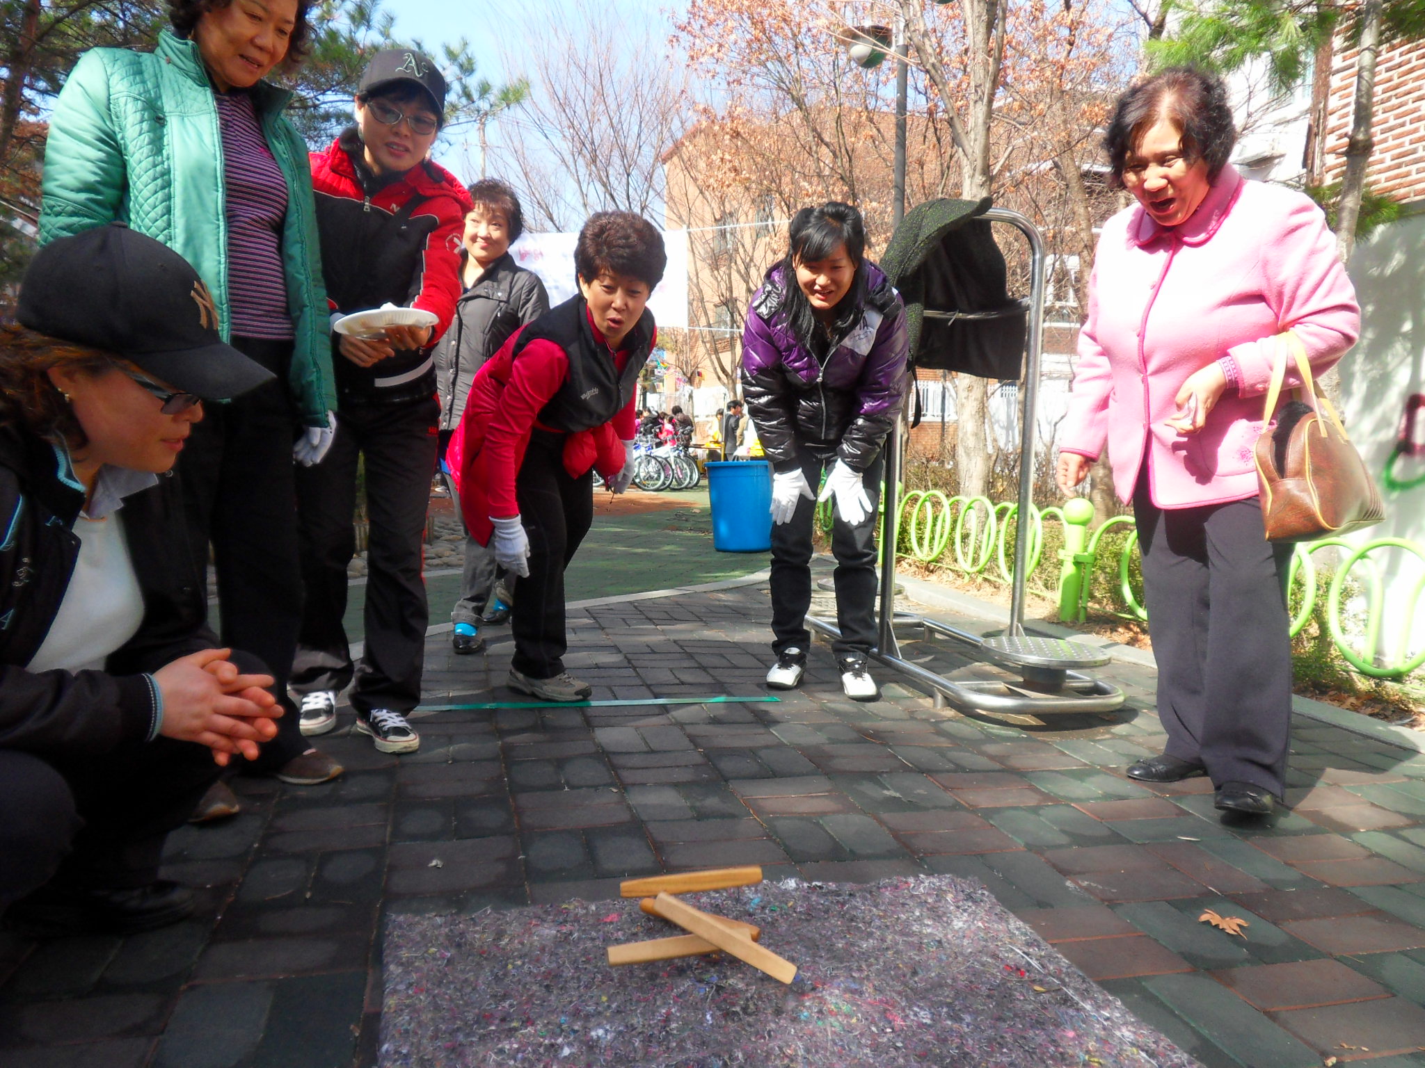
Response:
POLYGON ((811 632, 812 517, 835 497, 836 557, 832 642, 841 685, 854 701, 876 701, 866 672, 876 641, 876 501, 881 446, 906 389, 905 305, 865 258, 861 214, 832 201, 802 208, 787 258, 752 295, 742 333, 742 394, 772 461, 774 689, 801 685, 811 632))

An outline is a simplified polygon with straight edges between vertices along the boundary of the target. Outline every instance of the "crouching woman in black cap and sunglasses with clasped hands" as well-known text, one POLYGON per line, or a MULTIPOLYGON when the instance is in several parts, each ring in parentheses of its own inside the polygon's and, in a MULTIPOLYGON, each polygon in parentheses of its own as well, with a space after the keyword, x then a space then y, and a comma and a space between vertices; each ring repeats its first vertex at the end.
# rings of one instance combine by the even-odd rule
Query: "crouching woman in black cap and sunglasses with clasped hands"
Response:
POLYGON ((187 916, 157 877, 164 839, 276 735, 272 676, 204 624, 165 477, 204 399, 272 377, 209 299, 177 252, 111 225, 43 248, 0 326, 0 913, 28 927, 187 916))

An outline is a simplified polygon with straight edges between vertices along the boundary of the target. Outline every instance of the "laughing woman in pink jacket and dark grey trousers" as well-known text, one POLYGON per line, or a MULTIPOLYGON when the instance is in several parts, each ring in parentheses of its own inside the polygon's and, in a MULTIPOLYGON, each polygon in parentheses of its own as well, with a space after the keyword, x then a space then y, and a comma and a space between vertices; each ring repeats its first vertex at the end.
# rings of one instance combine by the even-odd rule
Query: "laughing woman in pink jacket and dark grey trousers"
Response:
POLYGON ((1129 775, 1210 775, 1218 809, 1265 816, 1285 786, 1291 545, 1265 540, 1253 447, 1280 335, 1321 375, 1355 343, 1359 309, 1321 209, 1227 164, 1217 78, 1177 67, 1140 83, 1104 141, 1137 204, 1099 238, 1059 484, 1107 444, 1137 518, 1167 746, 1129 775))

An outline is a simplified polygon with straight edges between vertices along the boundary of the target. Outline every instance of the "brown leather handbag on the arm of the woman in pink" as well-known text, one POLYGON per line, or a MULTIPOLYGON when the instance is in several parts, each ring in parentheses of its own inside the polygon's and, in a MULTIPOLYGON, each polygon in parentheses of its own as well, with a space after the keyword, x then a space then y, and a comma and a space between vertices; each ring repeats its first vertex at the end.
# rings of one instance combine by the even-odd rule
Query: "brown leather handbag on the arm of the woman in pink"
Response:
POLYGON ((1263 423, 1267 429, 1257 439, 1257 484, 1268 541, 1315 541, 1385 518, 1381 491, 1341 417, 1312 380, 1305 346, 1291 330, 1277 335, 1277 366, 1263 423), (1301 375, 1300 403, 1277 412, 1288 352, 1301 375))

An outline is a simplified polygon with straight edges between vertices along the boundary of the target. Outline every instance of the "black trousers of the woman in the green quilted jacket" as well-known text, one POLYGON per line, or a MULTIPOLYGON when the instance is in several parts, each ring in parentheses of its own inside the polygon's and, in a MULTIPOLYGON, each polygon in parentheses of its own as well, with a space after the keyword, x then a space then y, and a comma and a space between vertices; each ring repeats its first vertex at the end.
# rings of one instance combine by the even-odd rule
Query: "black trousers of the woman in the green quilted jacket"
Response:
POLYGON ((202 420, 178 454, 178 471, 200 567, 212 544, 222 644, 268 665, 286 709, 255 768, 271 772, 309 748, 286 698, 302 619, 292 473, 296 416, 286 386, 292 343, 234 337, 232 345, 278 377, 225 404, 204 404, 202 420))

